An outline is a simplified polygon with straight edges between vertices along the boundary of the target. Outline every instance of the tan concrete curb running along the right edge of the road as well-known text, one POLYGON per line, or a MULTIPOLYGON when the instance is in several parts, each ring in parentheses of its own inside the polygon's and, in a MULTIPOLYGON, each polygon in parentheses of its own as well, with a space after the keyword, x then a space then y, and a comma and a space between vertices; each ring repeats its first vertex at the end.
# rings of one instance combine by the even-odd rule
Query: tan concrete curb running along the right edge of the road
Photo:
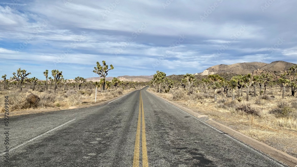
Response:
MULTIPOLYGON (((149 92, 149 91, 148 91, 149 92)), ((162 98, 160 96, 158 96, 156 93, 153 93, 153 92, 150 92, 151 94, 167 101, 168 103, 178 107, 179 109, 191 114, 192 116, 194 117, 198 117, 198 118, 201 118, 201 117, 208 117, 206 115, 201 115, 201 114, 198 114, 196 112, 193 112, 192 110, 189 110, 183 106, 180 106, 176 103, 173 103, 172 101, 169 101, 165 98, 162 98)), ((270 155, 271 157, 289 165, 290 167, 297 167, 297 158, 291 156, 291 155, 288 155, 287 153, 285 152, 282 152, 278 149, 275 149, 265 143, 262 143, 260 141, 257 141, 256 139, 253 139, 249 136, 246 136, 238 131, 235 131, 234 129, 232 128, 229 128, 228 126, 225 126, 221 123, 218 123, 214 120, 212 120, 211 118, 209 118, 208 120, 205 121, 206 123, 208 123, 209 125, 221 130, 221 131, 224 131, 225 133, 228 133, 229 135, 235 137, 236 139, 240 140, 240 141, 243 141, 244 143, 246 144, 249 144, 251 145, 252 147, 256 148, 256 149, 259 149, 263 152, 265 152, 266 154, 270 155)))

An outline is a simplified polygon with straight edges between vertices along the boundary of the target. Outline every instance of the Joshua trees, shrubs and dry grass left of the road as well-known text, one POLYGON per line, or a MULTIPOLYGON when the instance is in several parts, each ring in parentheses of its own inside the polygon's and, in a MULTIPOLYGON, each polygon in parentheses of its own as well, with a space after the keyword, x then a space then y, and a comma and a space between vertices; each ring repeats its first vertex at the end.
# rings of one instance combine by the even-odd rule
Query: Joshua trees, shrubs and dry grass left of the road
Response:
MULTIPOLYGON (((103 66, 97 62, 96 70, 99 76, 106 76, 108 69, 105 61, 103 66), (99 71, 99 72, 98 72, 99 71), (102 75, 101 75, 102 74, 102 75)), ((2 76, 0 81, 0 100, 4 101, 4 96, 9 96, 10 111, 24 109, 43 109, 59 107, 67 109, 70 106, 86 105, 95 103, 96 87, 97 103, 128 93, 132 90, 144 86, 144 82, 120 81, 116 77, 112 81, 105 81, 102 78, 99 82, 87 81, 83 77, 74 79, 64 79, 62 71, 54 69, 49 76, 49 70, 45 70, 43 75, 45 80, 36 77, 29 78, 30 72, 18 69, 7 79, 7 74, 2 76)), ((4 112, 4 106, 0 106, 0 112, 4 112)))

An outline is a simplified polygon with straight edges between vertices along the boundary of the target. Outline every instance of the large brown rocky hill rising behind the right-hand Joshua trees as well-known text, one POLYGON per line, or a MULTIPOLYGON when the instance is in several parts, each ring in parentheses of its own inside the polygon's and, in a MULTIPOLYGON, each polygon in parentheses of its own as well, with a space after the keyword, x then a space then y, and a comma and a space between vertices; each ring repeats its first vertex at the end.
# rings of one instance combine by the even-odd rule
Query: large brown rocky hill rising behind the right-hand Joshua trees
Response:
POLYGON ((266 70, 266 71, 285 71, 291 66, 295 65, 294 63, 289 63, 285 61, 274 61, 270 64, 260 63, 260 62, 251 62, 251 63, 236 63, 236 64, 220 64, 216 66, 209 67, 204 70, 202 73, 196 73, 199 75, 210 75, 210 74, 249 74, 254 70, 266 70))

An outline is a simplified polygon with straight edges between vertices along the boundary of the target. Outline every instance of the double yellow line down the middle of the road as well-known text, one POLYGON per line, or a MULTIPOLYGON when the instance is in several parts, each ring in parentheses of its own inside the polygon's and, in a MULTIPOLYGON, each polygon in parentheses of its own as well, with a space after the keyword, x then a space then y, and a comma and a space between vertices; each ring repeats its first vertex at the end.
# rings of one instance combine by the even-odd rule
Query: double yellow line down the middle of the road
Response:
POLYGON ((143 101, 142 101, 141 92, 140 92, 138 124, 137 124, 136 140, 135 140, 133 167, 139 167, 141 115, 142 115, 142 166, 149 167, 148 156, 147 156, 147 152, 146 152, 146 126, 145 126, 145 122, 144 122, 143 101))

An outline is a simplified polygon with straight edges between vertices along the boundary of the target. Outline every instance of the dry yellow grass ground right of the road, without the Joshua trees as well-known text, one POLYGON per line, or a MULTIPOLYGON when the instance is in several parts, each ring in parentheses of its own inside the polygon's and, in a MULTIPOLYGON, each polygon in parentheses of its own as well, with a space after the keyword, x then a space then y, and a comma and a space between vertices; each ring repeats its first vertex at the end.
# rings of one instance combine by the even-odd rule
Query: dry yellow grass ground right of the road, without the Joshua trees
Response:
POLYGON ((279 88, 267 88, 266 95, 249 96, 249 101, 243 93, 240 102, 232 101, 232 94, 226 96, 222 92, 214 102, 212 90, 204 94, 204 90, 196 89, 198 93, 191 96, 181 89, 158 95, 297 157, 297 99, 290 92, 282 99, 279 88))

